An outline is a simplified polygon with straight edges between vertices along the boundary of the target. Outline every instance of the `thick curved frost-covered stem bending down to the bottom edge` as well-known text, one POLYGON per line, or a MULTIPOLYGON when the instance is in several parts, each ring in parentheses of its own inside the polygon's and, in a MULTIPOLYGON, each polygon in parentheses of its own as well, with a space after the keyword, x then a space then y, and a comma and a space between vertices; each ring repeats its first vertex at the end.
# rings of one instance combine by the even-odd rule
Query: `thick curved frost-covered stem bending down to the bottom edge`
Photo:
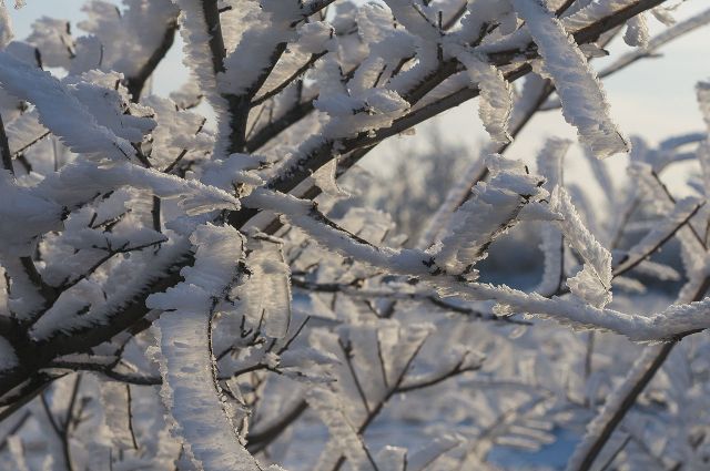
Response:
POLYGON ((195 264, 182 269, 184 281, 146 300, 151 308, 174 310, 163 314, 155 328, 162 352, 161 396, 197 469, 260 471, 221 399, 211 350, 209 313, 236 276, 242 236, 229 226, 203 225, 191 242, 196 246, 195 264))

